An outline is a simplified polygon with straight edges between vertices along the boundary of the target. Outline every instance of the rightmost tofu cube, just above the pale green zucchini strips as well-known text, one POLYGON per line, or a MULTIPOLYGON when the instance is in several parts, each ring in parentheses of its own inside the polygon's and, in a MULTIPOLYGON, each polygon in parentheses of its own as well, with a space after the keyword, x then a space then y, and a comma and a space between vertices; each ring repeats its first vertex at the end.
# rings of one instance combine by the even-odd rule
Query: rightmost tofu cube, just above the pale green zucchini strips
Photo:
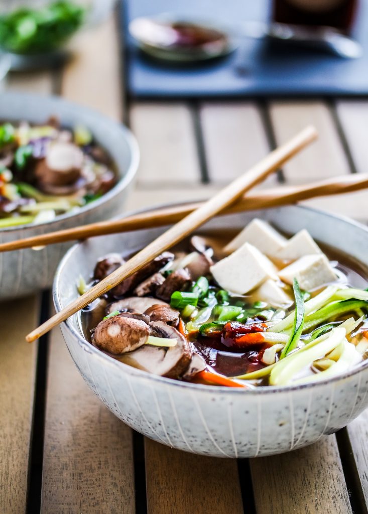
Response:
POLYGON ((299 287, 311 291, 336 280, 336 273, 328 262, 326 255, 304 255, 279 272, 281 280, 292 284, 297 279, 299 287))

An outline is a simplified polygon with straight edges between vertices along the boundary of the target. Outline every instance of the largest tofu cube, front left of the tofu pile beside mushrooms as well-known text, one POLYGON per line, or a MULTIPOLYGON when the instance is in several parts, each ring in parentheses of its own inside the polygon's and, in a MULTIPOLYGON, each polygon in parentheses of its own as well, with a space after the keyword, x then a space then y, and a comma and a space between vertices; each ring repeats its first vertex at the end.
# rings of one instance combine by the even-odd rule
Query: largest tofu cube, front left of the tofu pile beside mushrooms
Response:
POLYGON ((238 295, 244 295, 268 278, 277 279, 277 268, 249 243, 244 243, 210 269, 221 287, 238 295))

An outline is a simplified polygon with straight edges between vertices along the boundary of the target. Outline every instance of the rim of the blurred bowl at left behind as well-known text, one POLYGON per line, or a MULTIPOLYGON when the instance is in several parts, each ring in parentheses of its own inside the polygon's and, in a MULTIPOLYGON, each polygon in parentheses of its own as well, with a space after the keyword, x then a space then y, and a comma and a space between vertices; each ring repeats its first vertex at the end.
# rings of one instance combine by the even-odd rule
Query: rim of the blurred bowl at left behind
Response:
POLYGON ((6 97, 21 97, 24 99, 28 99, 29 101, 32 101, 32 99, 37 99, 38 101, 42 101, 43 99, 47 99, 48 101, 54 102, 59 105, 66 105, 69 107, 76 107, 78 108, 79 112, 84 112, 86 114, 92 114, 96 116, 97 118, 100 118, 100 120, 104 120, 105 123, 109 123, 112 126, 114 126, 114 130, 116 132, 120 132, 120 134, 125 138, 127 141, 127 144, 131 150, 131 161, 126 171, 124 171, 124 174, 120 176, 118 182, 115 184, 115 186, 107 191, 107 193, 103 194, 100 198, 97 200, 91 201, 88 204, 78 208, 78 211, 75 212, 67 212, 65 214, 60 214, 56 216, 54 219, 51 219, 50 221, 38 223, 36 225, 33 224, 23 224, 23 225, 16 225, 14 227, 4 227, 0 228, 0 234, 2 233, 16 233, 21 230, 25 229, 36 229, 39 227, 47 227, 49 225, 52 225, 53 223, 64 221, 65 219, 71 218, 73 216, 78 216, 79 214, 91 211, 100 205, 103 205, 105 202, 108 202, 112 198, 114 198, 117 194, 119 194, 122 190, 124 190, 134 179, 137 170, 138 170, 138 164, 140 160, 140 151, 137 139, 131 132, 131 130, 125 126, 123 123, 120 123, 119 121, 114 120, 113 118, 109 118, 108 116, 100 113, 94 108, 90 108, 88 106, 82 105, 77 102, 72 102, 69 100, 64 99, 63 97, 59 97, 57 95, 37 95, 34 93, 21 93, 19 91, 9 91, 2 94, 2 99, 6 99, 6 97))

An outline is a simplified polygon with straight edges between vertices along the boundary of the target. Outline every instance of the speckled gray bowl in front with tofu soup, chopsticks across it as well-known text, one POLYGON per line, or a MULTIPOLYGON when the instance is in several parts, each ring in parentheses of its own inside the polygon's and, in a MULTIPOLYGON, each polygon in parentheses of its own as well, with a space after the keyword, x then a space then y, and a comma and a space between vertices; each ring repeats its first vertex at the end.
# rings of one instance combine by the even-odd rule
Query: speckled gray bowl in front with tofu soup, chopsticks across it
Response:
MULTIPOLYGON (((241 229, 254 216, 289 233, 306 228, 317 241, 368 264, 366 228, 312 209, 228 215, 206 227, 241 229)), ((104 236, 70 249, 54 281, 57 310, 76 298, 78 275, 87 278, 99 256, 142 248, 162 230, 104 236)), ((183 383, 122 364, 83 338, 77 315, 63 323, 62 332, 81 375, 101 401, 135 430, 180 450, 217 457, 282 453, 339 430, 368 405, 368 360, 330 380, 244 391, 183 383)))

